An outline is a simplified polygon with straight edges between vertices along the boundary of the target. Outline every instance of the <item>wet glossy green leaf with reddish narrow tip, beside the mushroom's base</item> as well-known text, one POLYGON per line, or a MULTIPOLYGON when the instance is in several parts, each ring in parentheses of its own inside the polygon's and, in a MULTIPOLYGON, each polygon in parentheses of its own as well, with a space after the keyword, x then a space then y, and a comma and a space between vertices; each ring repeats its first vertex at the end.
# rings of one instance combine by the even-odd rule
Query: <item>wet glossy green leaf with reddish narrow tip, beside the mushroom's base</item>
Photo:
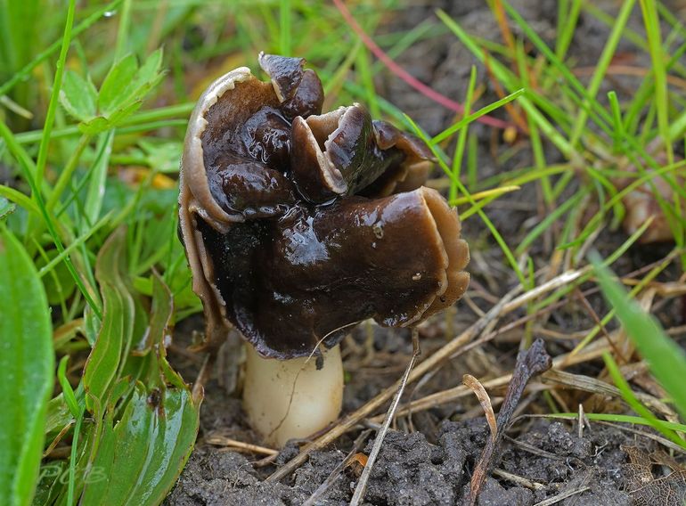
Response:
MULTIPOLYGON (((148 383, 133 384, 121 419, 111 406, 91 472, 83 506, 157 505, 167 495, 191 454, 200 424, 200 401, 167 363, 165 347, 173 314, 172 296, 157 274, 152 278, 152 309, 146 339, 148 383)), ((143 351, 143 350, 139 350, 143 351)))

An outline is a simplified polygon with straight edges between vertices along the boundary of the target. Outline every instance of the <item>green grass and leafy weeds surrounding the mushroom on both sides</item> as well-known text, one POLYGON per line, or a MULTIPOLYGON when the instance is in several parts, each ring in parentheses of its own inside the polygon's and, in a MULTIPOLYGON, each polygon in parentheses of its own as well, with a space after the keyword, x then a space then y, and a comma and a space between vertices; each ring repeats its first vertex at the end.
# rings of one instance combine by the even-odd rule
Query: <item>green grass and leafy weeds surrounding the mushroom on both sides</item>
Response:
MULTIPOLYGON (((573 342, 572 353, 602 339, 617 316, 638 349, 633 359, 649 363, 684 421, 686 399, 674 383, 684 373, 682 355, 674 351, 682 348, 630 302, 656 283, 677 282, 666 276, 686 267, 686 162, 679 157, 686 147, 686 91, 674 84, 679 82, 674 78, 686 78, 686 29, 680 21, 655 0, 625 0, 617 12, 560 0, 558 35, 546 41, 502 0, 492 3, 494 15, 508 20, 520 36, 494 34, 485 40, 441 11, 410 29, 387 26, 381 35, 380 25, 404 4, 364 0, 354 5, 355 19, 391 58, 434 38, 472 53, 467 93, 450 95, 464 106, 452 125, 425 132, 382 96, 380 78, 391 74, 330 3, 115 0, 84 5, 72 0, 63 9, 37 0, 0 4, 0 32, 6 36, 0 45, 0 164, 11 175, 0 184, 0 244, 21 251, 26 265, 20 271, 30 280, 25 288, 40 302, 18 318, 45 320, 48 334, 53 333, 51 347, 36 363, 49 366, 52 400, 37 396, 36 411, 26 410, 37 424, 21 435, 33 445, 28 456, 21 460, 20 450, 7 450, 7 455, 14 452, 18 485, 0 479, 0 486, 14 487, 7 493, 13 503, 29 503, 34 490, 35 504, 74 504, 79 498, 91 504, 103 494, 111 494, 110 503, 140 494, 148 494, 146 503, 159 503, 181 472, 197 432, 201 399, 167 363, 160 343, 167 326, 199 313, 201 306, 176 238, 178 159, 201 90, 234 67, 257 70, 262 50, 305 57, 323 78, 331 108, 363 102, 375 118, 423 138, 438 161, 430 184, 445 190, 470 225, 472 251, 494 250, 495 271, 505 273, 498 280, 503 288, 519 284, 533 290, 564 270, 589 265, 586 254, 596 248, 604 265, 625 258, 657 222, 622 232, 632 210, 627 199, 638 191, 649 194, 666 216, 674 242, 667 260, 642 272, 628 294, 598 267, 598 277, 589 271, 532 301, 526 311, 533 320, 521 339, 526 346, 536 326, 546 326, 547 308, 559 302, 573 306, 579 290, 600 280, 608 305, 573 342), (574 56, 581 17, 608 26, 598 60, 585 77, 574 56), (642 26, 630 23, 632 17, 642 26), (613 89, 617 48, 627 43, 646 54, 650 65, 633 79, 633 89, 613 89), (484 66, 487 72, 481 71, 484 66), (484 90, 495 88, 502 94, 485 100, 484 90), (494 163, 499 170, 488 175, 482 170, 483 138, 475 127, 486 115, 504 118, 514 139, 498 142, 494 163), (512 161, 521 150, 528 151, 530 167, 512 161), (522 230, 503 228, 495 206, 517 200, 527 189, 535 191, 537 211, 522 230), (36 295, 41 290, 45 301, 36 295), (633 329, 642 331, 633 335, 633 329), (663 348, 669 353, 660 352, 663 348), (56 371, 54 359, 60 363, 56 371), (173 427, 159 437, 123 437, 135 417, 144 420, 145 429, 159 424, 154 412, 143 409, 155 388, 168 399, 163 415, 176 420, 173 427), (39 471, 42 441, 43 449, 52 443, 69 447, 69 457, 43 461, 39 471), (88 481, 94 466, 143 465, 136 460, 141 455, 127 453, 134 443, 159 456, 156 465, 163 472, 149 472, 142 482, 148 492, 127 486, 127 480, 110 491, 88 481)), ((0 276, 14 274, 19 273, 0 276)), ((11 307, 10 298, 4 295, 0 306, 11 307)), ((13 324, 19 328, 20 320, 13 324)), ((4 332, 3 342, 16 338, 4 332)), ((682 445, 674 431, 682 432, 683 426, 637 404, 636 387, 613 365, 618 359, 608 355, 606 363, 594 366, 600 371, 607 364, 627 408, 682 445)), ((11 384, 10 372, 0 372, 0 384, 11 384)), ((43 388, 38 380, 33 387, 43 388)), ((617 418, 631 415, 611 416, 640 422, 617 418)))

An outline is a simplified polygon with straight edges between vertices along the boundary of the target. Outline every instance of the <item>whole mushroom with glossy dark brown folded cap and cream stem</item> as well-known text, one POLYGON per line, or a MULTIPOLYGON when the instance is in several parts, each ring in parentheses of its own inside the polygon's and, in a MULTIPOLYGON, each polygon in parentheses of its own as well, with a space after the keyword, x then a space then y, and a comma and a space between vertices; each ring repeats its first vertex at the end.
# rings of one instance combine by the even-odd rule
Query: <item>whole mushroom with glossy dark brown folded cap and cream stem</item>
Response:
POLYGON ((248 342, 244 407, 267 443, 339 415, 339 341, 356 323, 416 325, 461 298, 457 213, 421 186, 426 145, 360 104, 322 114, 305 61, 259 56, 218 78, 189 121, 179 229, 214 350, 248 342))

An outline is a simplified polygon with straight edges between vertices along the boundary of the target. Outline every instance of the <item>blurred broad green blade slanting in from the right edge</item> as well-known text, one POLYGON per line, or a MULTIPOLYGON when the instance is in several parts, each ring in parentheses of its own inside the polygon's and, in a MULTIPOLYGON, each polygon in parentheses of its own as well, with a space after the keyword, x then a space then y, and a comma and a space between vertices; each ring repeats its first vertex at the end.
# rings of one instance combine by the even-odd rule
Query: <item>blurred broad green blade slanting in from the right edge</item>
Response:
POLYGON ((651 314, 643 311, 629 298, 626 290, 612 279, 607 267, 598 261, 594 262, 594 265, 603 295, 615 308, 617 318, 648 363, 650 372, 666 389, 682 419, 686 420, 686 388, 683 388, 683 380, 686 378, 686 354, 666 335, 651 314))

